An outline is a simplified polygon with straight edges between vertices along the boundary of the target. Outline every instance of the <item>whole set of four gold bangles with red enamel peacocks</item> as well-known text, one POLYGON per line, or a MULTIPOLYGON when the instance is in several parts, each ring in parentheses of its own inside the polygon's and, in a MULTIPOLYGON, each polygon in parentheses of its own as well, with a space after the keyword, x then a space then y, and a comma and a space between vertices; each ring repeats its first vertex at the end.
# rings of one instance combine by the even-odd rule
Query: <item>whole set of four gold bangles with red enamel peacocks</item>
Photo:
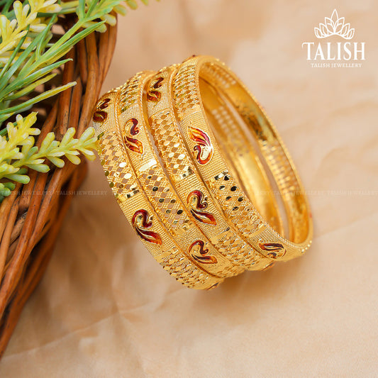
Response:
POLYGON ((185 286, 211 289, 311 245, 306 194, 277 130, 216 58, 135 74, 101 97, 93 120, 118 204, 185 286))

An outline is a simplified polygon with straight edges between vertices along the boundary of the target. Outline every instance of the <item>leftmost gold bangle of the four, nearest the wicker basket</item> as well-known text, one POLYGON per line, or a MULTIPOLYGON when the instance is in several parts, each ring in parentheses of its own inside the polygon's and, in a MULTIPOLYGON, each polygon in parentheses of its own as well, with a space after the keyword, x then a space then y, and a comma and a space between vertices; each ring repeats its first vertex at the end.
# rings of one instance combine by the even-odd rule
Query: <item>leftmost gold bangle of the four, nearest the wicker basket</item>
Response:
POLYGON ((115 109, 118 96, 117 91, 104 94, 97 103, 93 121, 99 139, 101 165, 119 206, 155 260, 178 282, 194 289, 216 287, 223 279, 189 260, 160 222, 140 187, 119 133, 118 109, 115 109))

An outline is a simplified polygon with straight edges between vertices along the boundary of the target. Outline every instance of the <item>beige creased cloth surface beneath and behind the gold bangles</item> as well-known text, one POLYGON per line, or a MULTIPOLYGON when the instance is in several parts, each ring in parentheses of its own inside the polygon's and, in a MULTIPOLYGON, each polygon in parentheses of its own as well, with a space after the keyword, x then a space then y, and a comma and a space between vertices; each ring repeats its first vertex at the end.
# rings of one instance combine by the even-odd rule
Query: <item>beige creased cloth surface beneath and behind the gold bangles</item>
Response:
POLYGON ((1 377, 377 377, 378 4, 164 0, 119 21, 104 90, 194 53, 238 73, 309 190, 313 247, 211 292, 174 282, 90 165, 1 377), (367 43, 360 69, 301 49, 337 8, 367 43))

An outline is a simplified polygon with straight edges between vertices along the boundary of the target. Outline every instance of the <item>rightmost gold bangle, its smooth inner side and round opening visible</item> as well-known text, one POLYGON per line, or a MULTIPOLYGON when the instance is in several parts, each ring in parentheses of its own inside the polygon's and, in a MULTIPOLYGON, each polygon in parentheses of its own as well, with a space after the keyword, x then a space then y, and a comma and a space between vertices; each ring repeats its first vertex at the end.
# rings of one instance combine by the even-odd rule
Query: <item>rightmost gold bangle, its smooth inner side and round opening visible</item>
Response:
POLYGON ((306 194, 277 130, 248 89, 223 63, 213 57, 198 56, 179 66, 172 84, 172 95, 182 135, 191 150, 196 152, 196 167, 240 235, 262 255, 275 260, 290 260, 305 252, 312 238, 312 219, 306 194), (200 77, 226 96, 257 139, 284 201, 290 240, 265 222, 230 173, 225 155, 218 148, 213 130, 206 120, 202 102, 206 99, 201 99, 200 77), (206 142, 199 144, 194 133, 202 135, 200 138, 206 142), (203 151, 207 154, 206 159, 200 155, 203 151))

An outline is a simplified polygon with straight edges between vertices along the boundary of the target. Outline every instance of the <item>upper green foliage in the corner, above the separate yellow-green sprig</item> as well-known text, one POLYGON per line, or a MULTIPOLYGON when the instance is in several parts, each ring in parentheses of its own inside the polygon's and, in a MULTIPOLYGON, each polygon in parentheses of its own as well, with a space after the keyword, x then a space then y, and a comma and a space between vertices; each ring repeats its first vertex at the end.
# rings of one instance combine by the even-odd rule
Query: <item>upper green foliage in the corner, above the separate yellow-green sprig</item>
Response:
MULTIPOLYGON (((11 1, 3 0, 5 4, 0 15, 0 126, 13 114, 26 111, 38 101, 76 84, 71 82, 50 89, 12 106, 12 101, 50 81, 55 70, 67 62, 61 58, 79 40, 94 30, 105 31, 106 23, 114 25, 116 17, 109 13, 126 11, 121 0, 78 0, 61 4, 56 1, 14 1, 11 9, 11 1), (78 19, 55 43, 50 43, 51 29, 59 13, 77 13, 78 19)), ((126 4, 131 9, 137 5, 134 0, 127 0, 126 4)))

